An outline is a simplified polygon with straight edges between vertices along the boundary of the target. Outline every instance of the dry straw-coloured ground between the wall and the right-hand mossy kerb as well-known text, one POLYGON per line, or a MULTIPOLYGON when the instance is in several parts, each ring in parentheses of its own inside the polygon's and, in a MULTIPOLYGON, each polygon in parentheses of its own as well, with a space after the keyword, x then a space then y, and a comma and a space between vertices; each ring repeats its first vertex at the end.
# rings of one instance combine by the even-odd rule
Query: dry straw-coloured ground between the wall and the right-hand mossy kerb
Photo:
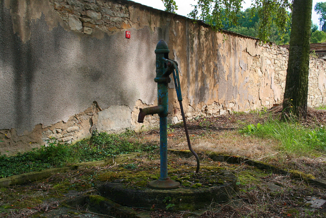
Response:
MULTIPOLYGON (((281 112, 282 107, 277 106, 268 112, 235 113, 194 119, 187 123, 192 137, 192 147, 197 151, 214 151, 263 161, 283 169, 299 170, 318 179, 326 180, 326 154, 319 154, 316 157, 285 154, 279 149, 280 142, 272 139, 245 137, 238 132, 239 128, 249 124, 262 124, 271 118, 279 119, 281 112)), ((326 110, 309 108, 307 119, 302 120, 301 124, 311 128, 325 126, 326 110)), ((149 133, 153 134, 154 131, 149 133)), ((188 149, 183 126, 174 126, 168 136, 169 146, 172 149, 188 149)))

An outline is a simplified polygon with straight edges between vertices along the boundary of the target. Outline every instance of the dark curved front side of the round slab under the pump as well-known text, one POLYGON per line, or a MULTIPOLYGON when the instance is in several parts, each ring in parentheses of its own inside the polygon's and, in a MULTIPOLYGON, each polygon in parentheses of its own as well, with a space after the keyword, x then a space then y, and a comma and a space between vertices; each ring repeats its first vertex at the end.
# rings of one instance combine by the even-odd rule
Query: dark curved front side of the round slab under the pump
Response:
POLYGON ((97 188, 101 196, 129 207, 151 208, 155 205, 155 208, 165 209, 170 204, 176 210, 198 210, 212 202, 230 200, 236 191, 236 177, 232 173, 225 173, 224 176, 223 184, 212 187, 158 190, 149 187, 128 188, 123 183, 111 182, 100 184, 97 188), (167 201, 167 198, 171 200, 167 201))

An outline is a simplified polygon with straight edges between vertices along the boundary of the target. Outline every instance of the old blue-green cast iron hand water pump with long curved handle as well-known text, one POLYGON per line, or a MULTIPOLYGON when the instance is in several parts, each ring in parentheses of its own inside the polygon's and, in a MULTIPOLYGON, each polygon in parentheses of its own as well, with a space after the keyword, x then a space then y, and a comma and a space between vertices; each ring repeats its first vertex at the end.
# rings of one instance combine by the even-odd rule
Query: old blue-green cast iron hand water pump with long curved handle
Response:
POLYGON ((149 182, 148 186, 157 189, 172 189, 177 188, 180 183, 170 180, 168 177, 168 132, 167 132, 167 116, 168 116, 168 83, 171 81, 169 77, 173 74, 175 89, 177 92, 178 101, 180 104, 181 115, 185 134, 189 149, 194 154, 197 160, 197 169, 199 171, 199 158, 195 151, 191 148, 187 125, 182 107, 182 96, 179 81, 179 72, 177 62, 169 59, 169 48, 164 40, 160 40, 156 46, 156 77, 157 82, 157 106, 140 108, 138 122, 143 123, 146 115, 158 114, 159 116, 159 137, 160 137, 160 177, 158 180, 149 182))

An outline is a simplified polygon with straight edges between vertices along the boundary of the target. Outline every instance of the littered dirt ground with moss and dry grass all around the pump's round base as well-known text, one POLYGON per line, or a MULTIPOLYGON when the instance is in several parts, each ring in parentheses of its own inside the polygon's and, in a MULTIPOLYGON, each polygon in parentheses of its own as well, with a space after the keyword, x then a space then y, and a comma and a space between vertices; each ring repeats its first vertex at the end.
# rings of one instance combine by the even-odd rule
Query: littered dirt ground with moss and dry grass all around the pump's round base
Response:
MULTIPOLYGON (((201 154, 201 162, 231 170, 237 177, 237 194, 230 196, 229 202, 212 202, 205 210, 196 213, 187 210, 174 211, 173 208, 137 210, 148 211, 148 217, 326 217, 326 190, 305 181, 305 175, 326 179, 325 154, 318 157, 286 155, 278 149, 277 141, 245 137, 237 130, 248 124, 264 123, 270 117, 277 118, 279 115, 280 108, 276 107, 271 113, 235 113, 219 117, 198 117, 189 121, 192 146, 201 154), (209 152, 250 158, 288 171, 299 170, 303 173, 302 177, 294 177, 290 173, 284 175, 260 170, 246 163, 217 162, 205 155, 209 152)), ((324 125, 325 117, 325 111, 311 109, 307 120, 302 121, 302 124, 312 127, 324 125)), ((157 143, 159 132, 150 130, 139 133, 131 140, 157 143)), ((188 149, 181 125, 169 127, 168 144, 170 149, 188 149)), ((139 170, 142 167, 157 167, 158 163, 157 152, 142 154, 121 164, 134 166, 135 169, 132 170, 139 170)), ((86 205, 63 207, 65 205, 62 202, 76 196, 98 194, 94 184, 99 176, 117 170, 121 164, 72 170, 45 180, 1 188, 0 217, 114 217, 93 213, 86 205)), ((169 154, 169 166, 189 166, 195 169, 196 160, 194 157, 169 154)))

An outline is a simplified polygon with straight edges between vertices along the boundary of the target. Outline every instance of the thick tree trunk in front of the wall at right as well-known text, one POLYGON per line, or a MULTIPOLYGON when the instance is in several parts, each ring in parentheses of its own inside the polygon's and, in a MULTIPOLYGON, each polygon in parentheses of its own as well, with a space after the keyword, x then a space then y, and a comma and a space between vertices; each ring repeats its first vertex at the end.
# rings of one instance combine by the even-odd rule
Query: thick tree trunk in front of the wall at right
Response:
POLYGON ((307 117, 312 0, 293 0, 283 117, 307 117))

